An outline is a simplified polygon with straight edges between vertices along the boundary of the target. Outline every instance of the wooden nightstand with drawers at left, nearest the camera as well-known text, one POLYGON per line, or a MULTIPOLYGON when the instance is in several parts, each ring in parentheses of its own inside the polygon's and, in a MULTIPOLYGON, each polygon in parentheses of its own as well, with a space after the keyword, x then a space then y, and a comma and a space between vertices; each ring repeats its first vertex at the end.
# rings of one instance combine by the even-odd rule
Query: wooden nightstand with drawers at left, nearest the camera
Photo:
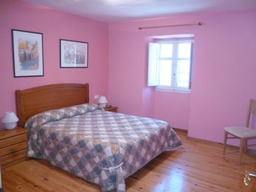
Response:
POLYGON ((0 131, 0 158, 3 168, 26 159, 27 132, 28 130, 22 127, 0 131))

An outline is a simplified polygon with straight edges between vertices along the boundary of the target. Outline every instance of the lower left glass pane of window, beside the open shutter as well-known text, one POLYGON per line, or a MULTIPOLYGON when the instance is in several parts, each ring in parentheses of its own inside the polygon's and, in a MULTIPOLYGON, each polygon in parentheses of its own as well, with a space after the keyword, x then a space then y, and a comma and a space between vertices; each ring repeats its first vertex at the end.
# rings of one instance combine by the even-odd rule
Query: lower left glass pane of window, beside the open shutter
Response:
POLYGON ((161 86, 172 84, 172 60, 160 61, 159 84, 161 86))

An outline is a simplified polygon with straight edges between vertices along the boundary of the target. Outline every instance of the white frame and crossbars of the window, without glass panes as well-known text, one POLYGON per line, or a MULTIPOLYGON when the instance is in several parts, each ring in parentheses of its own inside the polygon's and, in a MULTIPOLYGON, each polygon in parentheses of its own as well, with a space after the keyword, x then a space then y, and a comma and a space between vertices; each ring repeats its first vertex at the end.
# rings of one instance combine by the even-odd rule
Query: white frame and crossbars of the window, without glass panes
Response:
MULTIPOLYGON (((193 46, 194 46, 194 38, 173 38, 173 39, 157 39, 156 43, 159 44, 159 54, 158 58, 159 61, 162 59, 165 60, 173 60, 172 62, 172 80, 171 80, 171 85, 170 86, 156 86, 155 89, 159 91, 171 91, 171 92, 186 92, 190 93, 191 91, 191 70, 192 70, 192 64, 193 64, 193 46), (177 49, 177 44, 180 42, 190 42, 191 43, 191 56, 190 56, 190 68, 189 68, 189 86, 188 88, 182 88, 176 86, 177 84, 177 60, 183 60, 182 58, 178 58, 178 49, 177 49), (173 57, 172 59, 170 58, 160 58, 160 52, 161 52, 161 44, 173 44, 173 57)), ((184 59, 187 60, 187 59, 184 59)), ((160 68, 160 65, 158 65, 160 68)), ((159 69, 158 69, 159 71, 159 69)))

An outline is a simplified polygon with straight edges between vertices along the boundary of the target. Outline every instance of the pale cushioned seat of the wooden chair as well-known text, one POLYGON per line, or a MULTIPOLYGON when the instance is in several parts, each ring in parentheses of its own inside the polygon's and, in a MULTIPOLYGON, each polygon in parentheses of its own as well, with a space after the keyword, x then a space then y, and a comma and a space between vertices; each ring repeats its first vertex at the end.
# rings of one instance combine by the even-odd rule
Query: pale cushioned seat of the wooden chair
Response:
POLYGON ((234 135, 240 138, 256 137, 256 130, 253 130, 248 127, 228 126, 228 127, 225 127, 224 130, 230 133, 231 135, 234 135))

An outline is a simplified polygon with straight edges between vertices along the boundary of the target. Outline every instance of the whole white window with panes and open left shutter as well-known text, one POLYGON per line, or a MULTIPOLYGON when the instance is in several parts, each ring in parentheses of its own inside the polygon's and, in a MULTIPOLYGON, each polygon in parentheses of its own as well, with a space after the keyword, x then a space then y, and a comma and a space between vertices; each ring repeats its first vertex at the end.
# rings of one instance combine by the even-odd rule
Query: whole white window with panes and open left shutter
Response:
POLYGON ((148 86, 157 90, 190 92, 193 39, 150 42, 148 86))

